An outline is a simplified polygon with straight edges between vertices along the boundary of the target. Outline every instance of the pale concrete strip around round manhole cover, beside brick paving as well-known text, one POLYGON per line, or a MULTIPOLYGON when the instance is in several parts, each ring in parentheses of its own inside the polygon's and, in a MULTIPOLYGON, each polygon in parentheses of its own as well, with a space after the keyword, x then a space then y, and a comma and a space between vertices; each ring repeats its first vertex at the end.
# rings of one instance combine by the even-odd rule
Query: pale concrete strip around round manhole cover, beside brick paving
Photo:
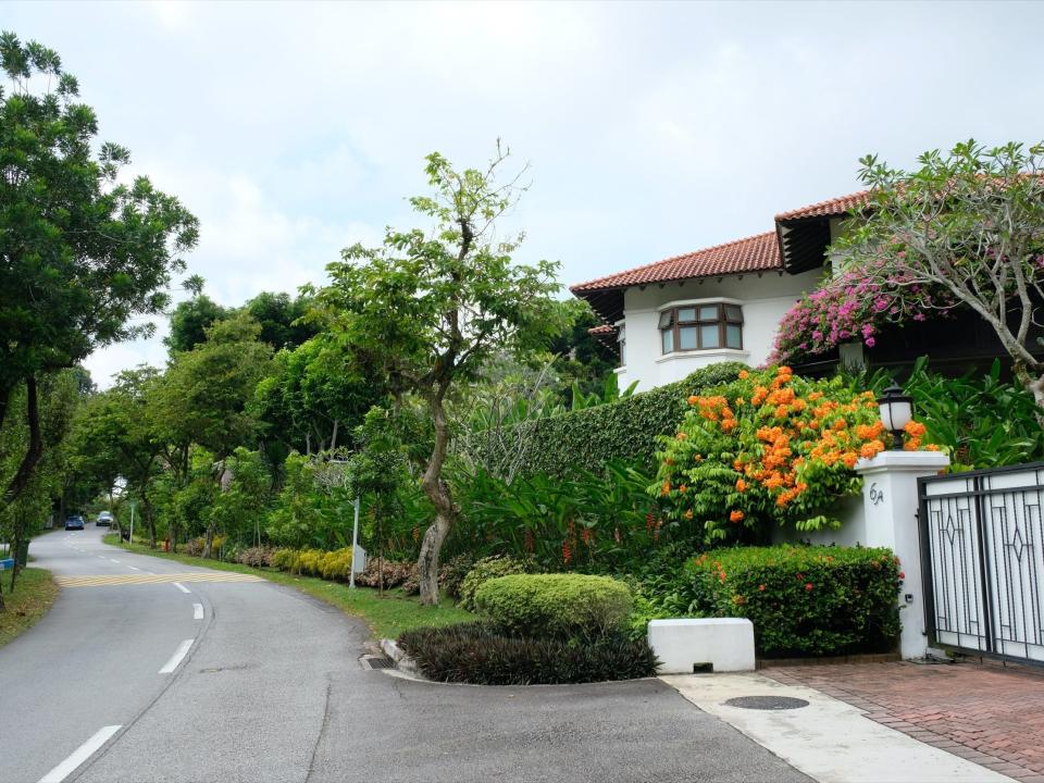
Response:
MULTIPOLYGON (((874 664, 882 666, 882 664, 874 664)), ((840 667, 835 667, 840 668, 840 667)), ((759 673, 660 678, 819 783, 1004 783, 1012 779, 869 719, 866 710, 759 673), (737 696, 786 696, 797 709, 732 707, 737 696)))

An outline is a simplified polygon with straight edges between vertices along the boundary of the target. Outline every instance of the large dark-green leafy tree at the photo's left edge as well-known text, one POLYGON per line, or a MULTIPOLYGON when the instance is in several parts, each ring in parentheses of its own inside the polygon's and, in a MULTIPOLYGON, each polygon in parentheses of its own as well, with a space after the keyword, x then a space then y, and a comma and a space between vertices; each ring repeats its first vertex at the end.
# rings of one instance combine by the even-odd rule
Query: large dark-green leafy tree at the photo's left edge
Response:
POLYGON ((198 226, 147 177, 117 178, 130 161, 124 147, 96 152, 95 112, 54 51, 3 33, 0 65, 0 423, 24 385, 29 427, 3 492, 11 501, 42 455, 41 374, 150 333, 138 316, 166 307, 164 288, 198 226))

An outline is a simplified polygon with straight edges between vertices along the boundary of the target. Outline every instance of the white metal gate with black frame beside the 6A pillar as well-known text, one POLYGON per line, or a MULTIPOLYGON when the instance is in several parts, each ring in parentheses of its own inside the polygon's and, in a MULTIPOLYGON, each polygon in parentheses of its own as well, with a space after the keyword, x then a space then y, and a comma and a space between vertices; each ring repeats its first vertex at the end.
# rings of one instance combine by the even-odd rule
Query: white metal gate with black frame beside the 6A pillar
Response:
POLYGON ((918 481, 929 638, 1044 663, 1044 463, 918 481))

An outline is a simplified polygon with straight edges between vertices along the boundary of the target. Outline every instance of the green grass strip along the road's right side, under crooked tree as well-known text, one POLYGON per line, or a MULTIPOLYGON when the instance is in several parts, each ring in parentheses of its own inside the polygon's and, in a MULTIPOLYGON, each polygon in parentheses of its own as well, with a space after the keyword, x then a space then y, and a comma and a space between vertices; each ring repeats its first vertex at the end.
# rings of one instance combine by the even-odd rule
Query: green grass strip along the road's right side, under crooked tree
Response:
POLYGON ((278 584, 296 587, 310 596, 319 598, 322 601, 331 604, 346 614, 361 618, 373 630, 378 638, 397 638, 403 631, 410 631, 418 627, 435 627, 450 625, 452 623, 469 622, 475 619, 475 616, 452 605, 448 598, 443 598, 443 602, 437 607, 422 606, 415 596, 407 596, 402 591, 385 591, 381 596, 372 587, 356 587, 350 589, 348 585, 339 582, 328 582, 315 576, 294 576, 293 574, 276 571, 275 569, 259 569, 240 563, 221 562, 220 560, 204 560, 203 558, 192 557, 191 555, 182 555, 181 552, 165 552, 157 549, 149 549, 145 544, 127 545, 121 542, 120 536, 110 533, 104 536, 105 544, 119 546, 127 551, 137 555, 149 555, 151 557, 163 558, 164 560, 174 560, 187 566, 200 566, 217 571, 235 571, 237 573, 249 573, 264 576, 266 580, 278 584))

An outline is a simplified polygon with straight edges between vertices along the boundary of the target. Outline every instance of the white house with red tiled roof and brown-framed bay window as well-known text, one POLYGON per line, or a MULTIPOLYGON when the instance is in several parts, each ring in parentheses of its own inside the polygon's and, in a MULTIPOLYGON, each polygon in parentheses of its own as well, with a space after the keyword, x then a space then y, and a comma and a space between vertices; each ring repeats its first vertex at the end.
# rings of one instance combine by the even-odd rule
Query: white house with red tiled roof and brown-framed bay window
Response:
POLYGON ((571 286, 620 346, 620 387, 649 389, 719 361, 766 361, 780 320, 823 276, 825 250, 866 191, 776 215, 775 231, 571 286))

